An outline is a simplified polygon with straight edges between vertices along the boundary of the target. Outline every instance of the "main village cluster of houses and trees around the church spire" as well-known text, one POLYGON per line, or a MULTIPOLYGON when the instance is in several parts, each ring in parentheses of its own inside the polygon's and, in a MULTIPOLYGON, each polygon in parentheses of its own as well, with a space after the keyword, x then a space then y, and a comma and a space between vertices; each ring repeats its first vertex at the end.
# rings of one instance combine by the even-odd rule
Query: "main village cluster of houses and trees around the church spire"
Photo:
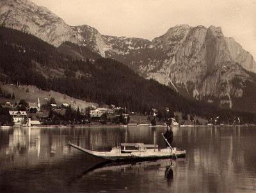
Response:
POLYGON ((79 107, 74 110, 67 103, 57 106, 53 97, 42 106, 38 97, 37 103, 21 99, 15 104, 6 102, 1 108, 8 110, 9 115, 4 126, 129 124, 129 114, 123 108, 99 108, 92 105, 84 110, 79 107))

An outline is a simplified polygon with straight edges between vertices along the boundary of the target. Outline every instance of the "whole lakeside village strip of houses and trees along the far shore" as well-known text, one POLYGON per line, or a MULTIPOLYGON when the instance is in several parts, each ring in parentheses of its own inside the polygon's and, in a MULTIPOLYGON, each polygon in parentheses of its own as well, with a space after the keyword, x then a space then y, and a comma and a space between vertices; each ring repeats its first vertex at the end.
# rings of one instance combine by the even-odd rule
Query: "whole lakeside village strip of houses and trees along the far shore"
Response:
MULTIPOLYGON (((56 104, 54 97, 51 97, 46 104, 40 103, 38 97, 37 103, 28 103, 24 99, 12 104, 6 102, 1 104, 0 127, 32 127, 32 126, 99 126, 99 125, 133 125, 150 126, 165 125, 170 123, 173 126, 195 126, 195 125, 222 125, 218 122, 218 117, 211 120, 204 120, 193 115, 185 113, 174 114, 165 108, 163 112, 152 108, 150 115, 137 115, 133 112, 127 112, 126 108, 111 105, 108 107, 88 106, 84 109, 73 109, 71 104, 56 104), (3 118, 3 111, 6 116, 3 118), (199 120, 198 120, 199 119, 199 120)), ((240 125, 237 117, 232 125, 240 125)))

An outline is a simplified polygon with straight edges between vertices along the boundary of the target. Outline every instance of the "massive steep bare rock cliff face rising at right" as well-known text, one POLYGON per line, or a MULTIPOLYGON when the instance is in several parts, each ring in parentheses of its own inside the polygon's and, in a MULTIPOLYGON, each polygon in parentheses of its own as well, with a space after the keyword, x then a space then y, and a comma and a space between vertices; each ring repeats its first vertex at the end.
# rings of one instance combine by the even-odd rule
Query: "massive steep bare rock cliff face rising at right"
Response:
MULTIPOLYGON (((186 96, 198 99, 218 97, 220 103, 232 106, 232 97, 241 97, 243 90, 232 85, 234 77, 250 80, 243 67, 234 61, 230 54, 226 38, 220 27, 209 29, 198 26, 177 25, 164 36, 154 39, 167 52, 168 60, 164 61, 166 83, 186 96)), ((163 69, 155 73, 147 73, 151 78, 161 82, 159 75, 163 69)), ((211 101, 211 100, 210 100, 211 101)))

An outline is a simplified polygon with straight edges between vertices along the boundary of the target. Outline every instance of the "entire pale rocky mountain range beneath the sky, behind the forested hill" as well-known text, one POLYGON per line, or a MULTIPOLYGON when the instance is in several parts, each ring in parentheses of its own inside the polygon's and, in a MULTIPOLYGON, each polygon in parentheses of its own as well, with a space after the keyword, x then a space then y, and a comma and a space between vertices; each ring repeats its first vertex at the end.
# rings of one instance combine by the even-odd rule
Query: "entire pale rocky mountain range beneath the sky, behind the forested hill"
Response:
POLYGON ((176 25, 152 41, 106 36, 88 25, 67 25, 47 8, 28 0, 1 1, 0 24, 33 34, 83 60, 92 57, 83 50, 93 50, 186 97, 227 108, 246 110, 248 101, 243 106, 237 101, 241 103, 250 83, 255 83, 250 73, 256 72, 252 55, 233 38, 225 38, 220 27, 176 25))

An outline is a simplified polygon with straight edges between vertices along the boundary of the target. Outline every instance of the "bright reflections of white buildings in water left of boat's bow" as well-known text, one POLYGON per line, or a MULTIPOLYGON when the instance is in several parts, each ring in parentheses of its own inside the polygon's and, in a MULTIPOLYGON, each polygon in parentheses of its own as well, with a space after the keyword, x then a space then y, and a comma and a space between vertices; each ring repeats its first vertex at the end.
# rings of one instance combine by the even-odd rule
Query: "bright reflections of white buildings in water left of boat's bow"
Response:
MULTIPOLYGON (((61 129, 58 129, 61 132, 61 129)), ((4 166, 24 164, 33 165, 51 158, 60 159, 74 150, 68 149, 65 135, 54 136, 44 128, 16 127, 1 131, 0 154, 4 166), (2 135, 2 133, 5 133, 2 135)))

